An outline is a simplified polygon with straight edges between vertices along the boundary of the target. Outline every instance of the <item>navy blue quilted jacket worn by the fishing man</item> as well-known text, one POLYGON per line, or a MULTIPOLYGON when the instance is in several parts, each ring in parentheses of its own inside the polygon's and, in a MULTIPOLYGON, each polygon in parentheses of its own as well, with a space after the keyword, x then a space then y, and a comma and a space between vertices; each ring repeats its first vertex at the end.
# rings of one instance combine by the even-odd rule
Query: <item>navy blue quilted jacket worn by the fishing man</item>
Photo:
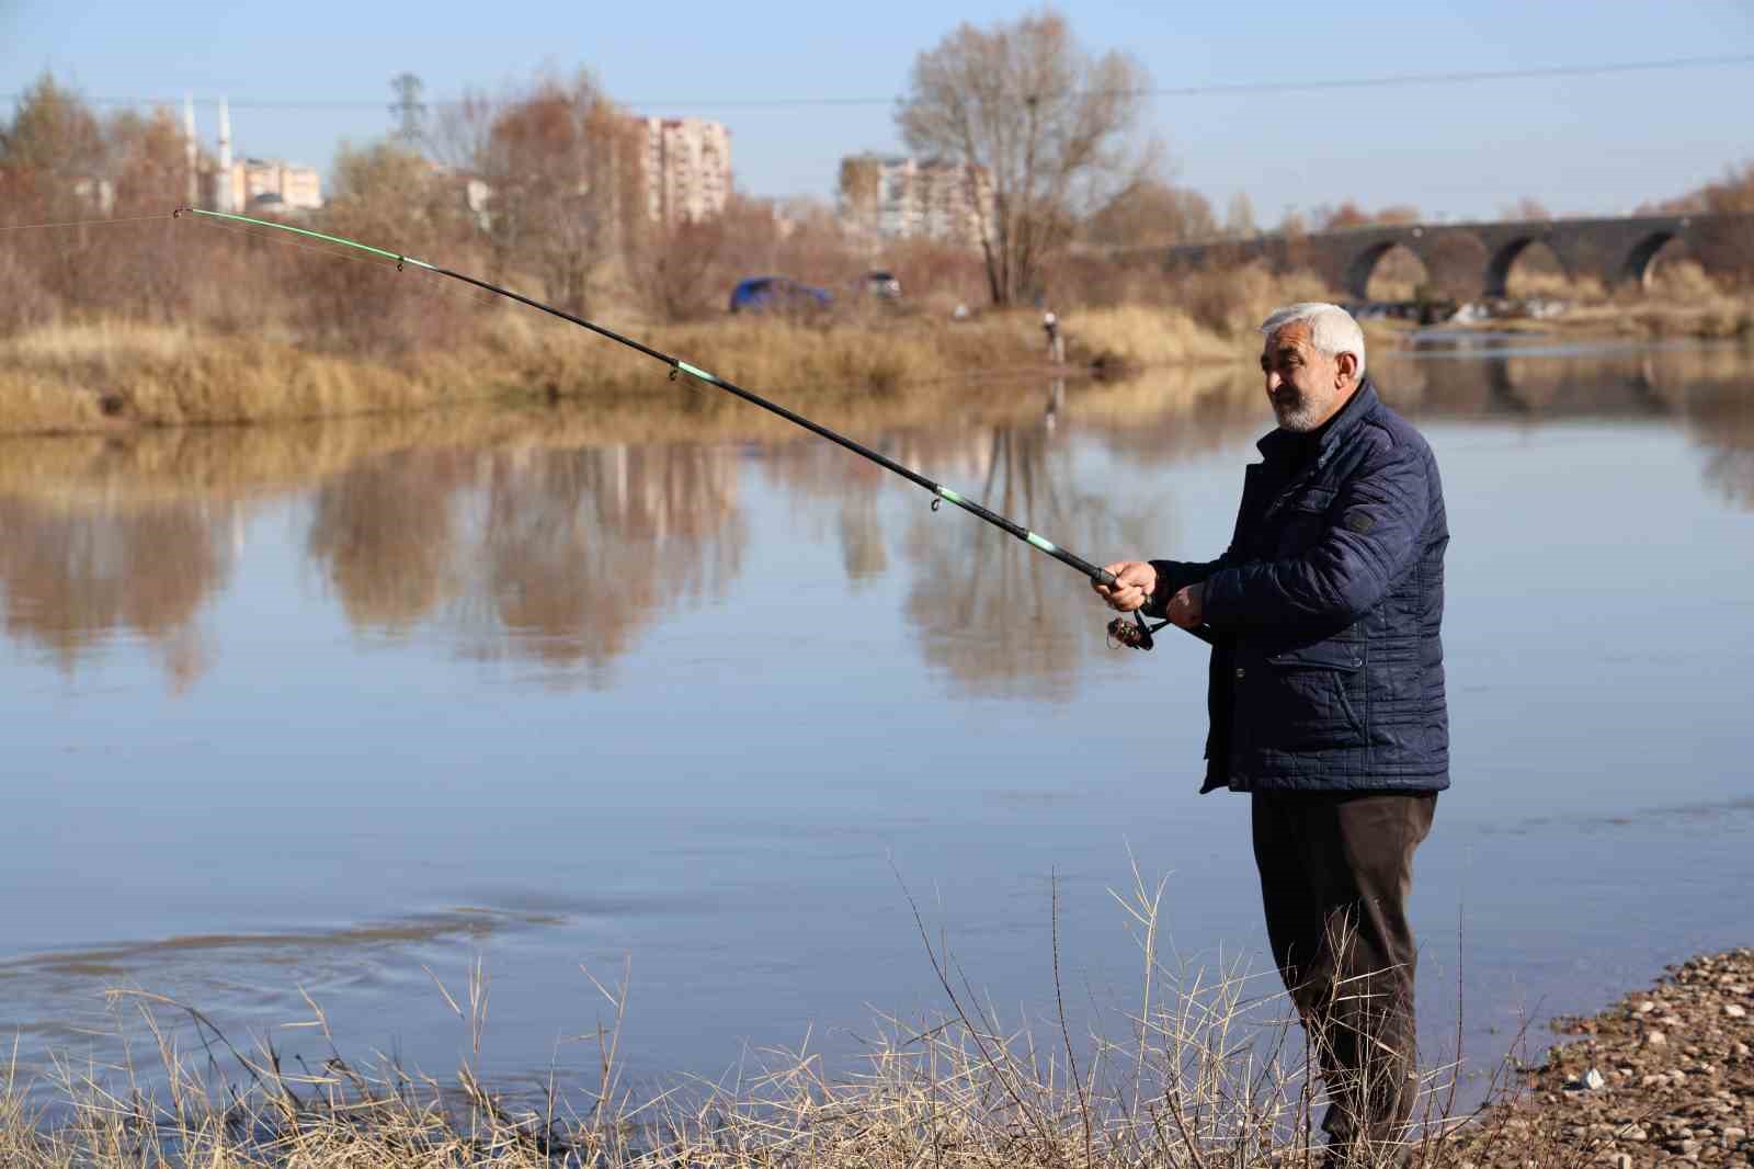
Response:
POLYGON ((1366 377, 1317 435, 1275 430, 1230 549, 1154 560, 1205 581, 1214 648, 1201 792, 1449 786, 1444 488, 1431 448, 1366 377))

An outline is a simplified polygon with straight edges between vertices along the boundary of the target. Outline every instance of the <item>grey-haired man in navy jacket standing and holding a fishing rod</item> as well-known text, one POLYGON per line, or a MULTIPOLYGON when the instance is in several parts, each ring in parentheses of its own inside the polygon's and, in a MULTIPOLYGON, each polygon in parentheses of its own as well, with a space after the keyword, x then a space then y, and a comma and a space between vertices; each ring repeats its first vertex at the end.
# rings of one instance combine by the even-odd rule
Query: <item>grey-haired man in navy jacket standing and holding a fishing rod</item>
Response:
POLYGON ((1328 1165, 1375 1164, 1417 1097, 1412 857, 1449 786, 1437 460, 1331 304, 1261 325, 1279 428, 1217 560, 1093 586, 1212 641, 1201 792, 1247 792, 1273 960, 1321 1060, 1328 1165))

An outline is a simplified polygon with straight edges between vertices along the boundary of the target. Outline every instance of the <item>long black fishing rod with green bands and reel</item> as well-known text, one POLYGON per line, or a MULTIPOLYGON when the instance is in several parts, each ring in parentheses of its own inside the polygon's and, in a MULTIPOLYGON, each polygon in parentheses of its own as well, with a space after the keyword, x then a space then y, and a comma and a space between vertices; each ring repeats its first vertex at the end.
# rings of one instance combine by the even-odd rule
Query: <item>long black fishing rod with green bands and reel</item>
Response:
MULTIPOLYGON (((498 293, 500 297, 509 297, 510 300, 516 300, 517 304, 530 305, 531 309, 540 309, 542 312, 547 312, 549 316, 558 316, 563 321, 570 321, 572 325, 579 325, 581 328, 588 328, 593 333, 598 333, 600 337, 609 337, 610 341, 621 342, 621 344, 628 346, 630 349, 637 349, 638 353, 644 353, 649 358, 663 362, 665 365, 670 367, 670 381, 675 381, 677 374, 688 374, 689 377, 693 377, 696 381, 703 381, 709 386, 714 386, 717 390, 724 390, 726 393, 737 395, 738 398, 742 398, 744 402, 749 402, 751 405, 759 405, 765 411, 779 414, 786 421, 789 421, 793 425, 798 425, 798 427, 803 427, 810 434, 821 435, 821 437, 828 439, 830 442, 844 446, 845 449, 852 451, 854 455, 861 455, 861 456, 868 458, 870 462, 877 463, 879 467, 882 467, 886 470, 893 470, 895 474, 902 476, 909 483, 916 483, 916 484, 926 488, 928 491, 931 491, 933 497, 935 497, 931 500, 931 509, 933 511, 938 509, 940 500, 947 500, 951 504, 956 504, 963 511, 970 513, 972 516, 979 516, 980 520, 986 520, 995 528, 1000 528, 1002 532, 1007 532, 1009 535, 1017 537, 1019 541, 1023 541, 1024 544, 1030 544, 1037 551, 1044 551, 1049 556, 1052 556, 1054 560, 1077 569, 1086 577, 1089 577, 1091 583, 1094 583, 1094 584, 1109 584, 1109 586, 1112 586, 1116 583, 1114 572, 1109 572, 1107 569, 1100 569, 1094 563, 1091 563, 1089 560, 1084 560, 1082 556, 1077 556, 1077 555, 1066 551, 1065 548, 1059 548, 1058 544, 1054 544, 1047 537, 1031 532, 1030 528, 1023 527, 1021 523, 1007 520, 1005 516, 998 514, 996 511, 989 511, 988 507, 982 507, 975 500, 966 498, 963 495, 958 495, 956 491, 952 491, 951 488, 944 486, 942 483, 933 483, 931 479, 928 479, 926 476, 919 474, 917 470, 914 470, 910 467, 903 467, 902 463, 895 462, 893 458, 889 458, 886 455, 881 455, 879 451, 870 449, 863 442, 856 442, 856 441, 852 441, 852 439, 849 439, 849 437, 845 437, 842 434, 835 434, 828 427, 823 427, 821 423, 814 423, 809 418, 805 418, 803 414, 789 411, 789 409, 786 409, 784 405, 781 405, 777 402, 770 402, 770 400, 763 398, 758 393, 751 393, 749 390, 744 390, 742 386, 738 386, 733 381, 719 377, 717 374, 709 374, 707 370, 700 369, 698 365, 689 365, 688 362, 684 362, 681 358, 675 358, 675 356, 670 356, 668 353, 661 353, 658 349, 652 349, 651 346, 642 344, 642 342, 635 341, 633 337, 624 337, 624 335, 617 333, 612 328, 605 328, 603 325, 598 325, 596 321, 588 321, 582 316, 574 316, 572 312, 565 312, 561 309, 556 309, 551 304, 542 304, 540 300, 533 300, 530 297, 524 297, 523 293, 516 293, 510 288, 500 288, 498 284, 489 284, 488 281, 479 279, 475 276, 470 276, 467 272, 458 272, 454 269, 447 269, 447 267, 438 265, 438 263, 428 263, 426 260, 416 260, 414 256, 403 255, 400 251, 388 251, 384 247, 372 247, 370 244, 361 244, 360 240, 346 239, 342 235, 328 235, 324 232, 312 232, 310 228, 300 228, 300 226, 293 226, 289 223, 275 223, 272 219, 253 219, 251 216, 239 216, 239 214, 232 214, 232 212, 225 212, 225 211, 203 211, 200 207, 177 207, 175 211, 170 212, 170 218, 177 219, 177 218, 182 216, 184 211, 189 212, 191 216, 202 216, 202 218, 207 218, 207 219, 230 219, 232 223, 249 223, 251 226, 272 228, 275 232, 289 232, 293 235, 305 235, 309 239, 319 239, 319 240, 324 240, 324 242, 330 242, 330 244, 340 244, 342 247, 354 247, 358 251, 379 256, 382 260, 395 260, 398 272, 403 270, 403 265, 410 265, 412 263, 417 269, 424 269, 428 272, 437 272, 438 276, 449 276, 454 281, 461 281, 465 284, 474 284, 475 288, 481 288, 481 290, 486 290, 486 291, 491 291, 491 293, 498 293)), ((1133 625, 1128 625, 1126 618, 1116 618, 1116 620, 1112 620, 1109 623, 1109 635, 1114 641, 1117 641, 1119 644, 1123 644, 1123 646, 1128 646, 1128 648, 1133 648, 1133 649, 1151 649, 1152 641, 1154 641, 1152 634, 1156 634, 1165 625, 1168 625, 1168 621, 1159 621, 1158 625, 1151 625, 1151 623, 1145 621, 1145 614, 1140 609, 1133 611, 1133 618, 1135 618, 1133 625)), ((1189 630, 1189 632, 1194 634, 1196 637, 1200 637, 1201 641, 1210 641, 1210 634, 1205 632, 1205 630, 1189 630)))

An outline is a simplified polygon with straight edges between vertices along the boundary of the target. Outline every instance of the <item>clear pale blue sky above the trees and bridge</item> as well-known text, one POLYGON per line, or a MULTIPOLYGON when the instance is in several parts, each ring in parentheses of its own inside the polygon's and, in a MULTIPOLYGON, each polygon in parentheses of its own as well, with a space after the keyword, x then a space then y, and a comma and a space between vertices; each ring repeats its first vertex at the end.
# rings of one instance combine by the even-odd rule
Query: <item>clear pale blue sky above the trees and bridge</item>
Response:
MULTIPOLYGON (((958 23, 1031 7, 889 4, 119 4, 0 0, 0 93, 53 70, 91 97, 361 102, 233 107, 253 154, 328 167, 340 140, 391 128, 389 77, 428 100, 593 70, 647 114, 731 128, 738 188, 831 193, 842 154, 898 149, 893 107, 738 107, 886 98, 958 23)), ((1754 4, 1096 4, 1061 5, 1086 47, 1126 49, 1158 86, 1330 81, 1754 54, 1754 4)), ((1494 216, 1533 197, 1615 214, 1754 158, 1754 65, 1277 95, 1159 97, 1147 125, 1175 179, 1261 221, 1356 198, 1494 216)), ((198 111, 214 135, 212 107, 198 111)))

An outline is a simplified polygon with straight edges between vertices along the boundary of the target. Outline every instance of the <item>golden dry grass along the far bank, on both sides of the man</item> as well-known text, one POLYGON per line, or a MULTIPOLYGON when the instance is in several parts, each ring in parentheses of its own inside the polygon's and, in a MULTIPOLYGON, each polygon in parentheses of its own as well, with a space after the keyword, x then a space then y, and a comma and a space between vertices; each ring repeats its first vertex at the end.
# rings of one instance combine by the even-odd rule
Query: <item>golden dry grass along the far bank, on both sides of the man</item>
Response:
MULTIPOLYGON (((1754 302, 1717 291, 1694 267, 1666 265, 1668 291, 1658 297, 1586 304, 1528 326, 1577 335, 1754 339, 1754 302)), ((989 311, 968 321, 875 312, 826 321, 744 316, 665 325, 633 318, 610 325, 756 393, 817 412, 942 393, 945 386, 977 397, 973 386, 982 381, 1235 363, 1252 351, 1254 330, 1268 311, 1326 295, 1314 277, 1275 276, 1254 265, 1186 274, 1165 291, 1163 305, 1063 312, 1072 358, 1065 367, 1047 362, 1033 311, 989 311)), ((667 393, 658 362, 542 314, 477 298, 458 319, 463 325, 444 344, 381 351, 337 349, 275 328, 119 318, 39 323, 0 335, 0 434, 314 420, 468 402, 581 398, 607 407, 667 393)), ((1366 328, 1379 351, 1405 335, 1400 325, 1366 328)))

